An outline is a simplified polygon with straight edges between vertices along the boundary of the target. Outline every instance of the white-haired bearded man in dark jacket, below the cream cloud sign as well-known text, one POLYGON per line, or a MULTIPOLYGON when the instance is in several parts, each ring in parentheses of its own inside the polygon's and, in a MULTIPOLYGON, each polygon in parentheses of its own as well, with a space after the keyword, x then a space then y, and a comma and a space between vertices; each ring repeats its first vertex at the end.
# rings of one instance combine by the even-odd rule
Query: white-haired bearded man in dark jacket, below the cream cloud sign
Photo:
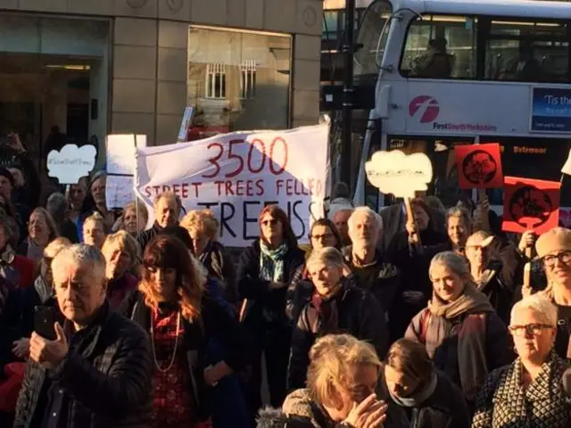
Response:
POLYGON ((385 261, 377 248, 383 234, 383 219, 368 207, 356 208, 348 221, 352 245, 343 248, 343 255, 361 288, 372 292, 383 309, 393 307, 401 274, 385 261))

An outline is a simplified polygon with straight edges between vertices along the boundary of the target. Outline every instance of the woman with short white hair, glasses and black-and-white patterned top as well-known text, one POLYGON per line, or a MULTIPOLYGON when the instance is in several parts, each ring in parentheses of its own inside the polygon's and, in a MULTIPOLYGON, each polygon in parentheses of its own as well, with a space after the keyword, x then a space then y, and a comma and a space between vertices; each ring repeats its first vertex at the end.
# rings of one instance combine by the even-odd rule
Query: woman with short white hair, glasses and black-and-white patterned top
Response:
POLYGON ((571 426, 571 406, 562 383, 568 364, 553 348, 557 325, 558 309, 541 294, 514 305, 509 332, 518 357, 488 376, 473 428, 571 426))

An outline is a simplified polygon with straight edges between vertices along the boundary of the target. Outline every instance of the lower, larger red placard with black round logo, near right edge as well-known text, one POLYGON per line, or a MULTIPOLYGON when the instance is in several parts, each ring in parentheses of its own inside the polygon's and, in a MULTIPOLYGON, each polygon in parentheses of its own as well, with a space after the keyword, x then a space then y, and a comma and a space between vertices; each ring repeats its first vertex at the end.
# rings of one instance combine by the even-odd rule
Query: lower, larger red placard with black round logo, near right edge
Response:
POLYGON ((536 234, 559 225, 559 181, 505 177, 502 230, 536 234))

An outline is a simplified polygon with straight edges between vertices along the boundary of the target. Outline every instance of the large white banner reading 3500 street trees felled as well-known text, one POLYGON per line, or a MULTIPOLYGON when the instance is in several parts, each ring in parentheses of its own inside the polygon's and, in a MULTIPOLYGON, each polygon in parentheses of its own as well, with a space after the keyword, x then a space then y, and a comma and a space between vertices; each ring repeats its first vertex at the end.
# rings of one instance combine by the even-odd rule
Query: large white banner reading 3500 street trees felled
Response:
POLYGON ((137 195, 149 223, 156 196, 170 190, 186 210, 213 210, 225 245, 244 247, 258 237, 259 214, 272 203, 307 242, 310 222, 325 211, 328 129, 236 132, 137 150, 137 195))

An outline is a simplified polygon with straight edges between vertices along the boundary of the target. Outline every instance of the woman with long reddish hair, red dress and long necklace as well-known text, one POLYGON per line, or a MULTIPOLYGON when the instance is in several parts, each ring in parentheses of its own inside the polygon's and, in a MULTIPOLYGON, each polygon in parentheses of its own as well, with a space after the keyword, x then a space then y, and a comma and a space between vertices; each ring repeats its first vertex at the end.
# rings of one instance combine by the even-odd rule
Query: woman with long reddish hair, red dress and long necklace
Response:
POLYGON ((155 236, 145 247, 138 291, 131 292, 122 307, 151 336, 157 428, 208 425, 211 389, 249 362, 247 335, 203 292, 206 278, 194 263, 178 238, 155 236), (225 360, 205 366, 206 344, 212 338, 227 354, 225 360))

